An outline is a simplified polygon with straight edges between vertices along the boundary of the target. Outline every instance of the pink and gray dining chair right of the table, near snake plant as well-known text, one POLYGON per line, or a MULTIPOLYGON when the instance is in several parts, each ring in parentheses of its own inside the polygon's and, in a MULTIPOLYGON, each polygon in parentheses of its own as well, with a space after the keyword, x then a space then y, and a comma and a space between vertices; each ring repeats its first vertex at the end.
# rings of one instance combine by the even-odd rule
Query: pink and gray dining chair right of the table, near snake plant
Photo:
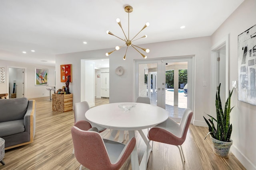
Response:
MULTIPOLYGON (((168 118, 163 123, 160 123, 155 127, 152 127, 148 133, 149 141, 147 145, 147 150, 148 150, 150 141, 152 141, 152 150, 153 150, 153 141, 175 145, 176 147, 178 147, 180 151, 180 158, 182 160, 183 169, 185 169, 184 168, 185 157, 184 157, 181 145, 184 143, 186 139, 188 127, 190 125, 192 115, 193 115, 192 110, 190 108, 187 108, 183 112, 180 124, 176 123, 171 118, 168 118)), ((148 158, 148 152, 147 152, 146 158, 148 158)), ((146 162, 146 166, 147 166, 147 162, 146 162)))

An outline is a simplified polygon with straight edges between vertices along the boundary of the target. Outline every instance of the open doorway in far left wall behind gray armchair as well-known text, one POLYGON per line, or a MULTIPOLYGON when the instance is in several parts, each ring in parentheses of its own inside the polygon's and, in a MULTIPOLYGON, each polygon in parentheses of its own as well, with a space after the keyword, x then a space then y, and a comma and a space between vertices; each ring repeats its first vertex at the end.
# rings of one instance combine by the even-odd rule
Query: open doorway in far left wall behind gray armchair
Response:
POLYGON ((25 96, 25 68, 8 68, 9 98, 23 98, 25 96))

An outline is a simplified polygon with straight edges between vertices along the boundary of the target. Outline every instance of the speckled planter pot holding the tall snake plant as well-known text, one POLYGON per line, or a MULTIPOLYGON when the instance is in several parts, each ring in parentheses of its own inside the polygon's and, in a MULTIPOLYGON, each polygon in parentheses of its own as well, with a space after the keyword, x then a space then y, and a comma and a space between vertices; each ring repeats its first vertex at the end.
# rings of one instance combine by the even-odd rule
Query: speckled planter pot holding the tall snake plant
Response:
POLYGON ((228 153, 231 145, 233 144, 233 141, 230 139, 231 142, 222 142, 217 139, 214 139, 212 136, 210 137, 212 139, 213 152, 218 156, 228 158, 228 153))

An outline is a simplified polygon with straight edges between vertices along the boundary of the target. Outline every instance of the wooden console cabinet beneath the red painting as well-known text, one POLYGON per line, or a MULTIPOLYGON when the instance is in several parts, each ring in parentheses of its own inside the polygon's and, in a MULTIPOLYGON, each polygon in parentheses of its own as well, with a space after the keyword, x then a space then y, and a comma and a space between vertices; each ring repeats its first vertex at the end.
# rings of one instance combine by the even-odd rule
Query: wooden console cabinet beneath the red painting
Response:
POLYGON ((73 110, 73 94, 52 94, 53 111, 70 111, 73 110))

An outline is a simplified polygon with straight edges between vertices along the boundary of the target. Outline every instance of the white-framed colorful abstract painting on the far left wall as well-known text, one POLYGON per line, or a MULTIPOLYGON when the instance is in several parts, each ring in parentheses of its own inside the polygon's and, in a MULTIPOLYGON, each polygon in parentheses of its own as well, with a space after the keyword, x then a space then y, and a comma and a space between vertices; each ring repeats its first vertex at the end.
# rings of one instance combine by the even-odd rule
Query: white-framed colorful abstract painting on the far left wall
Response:
POLYGON ((35 86, 48 85, 48 69, 35 68, 35 86))

